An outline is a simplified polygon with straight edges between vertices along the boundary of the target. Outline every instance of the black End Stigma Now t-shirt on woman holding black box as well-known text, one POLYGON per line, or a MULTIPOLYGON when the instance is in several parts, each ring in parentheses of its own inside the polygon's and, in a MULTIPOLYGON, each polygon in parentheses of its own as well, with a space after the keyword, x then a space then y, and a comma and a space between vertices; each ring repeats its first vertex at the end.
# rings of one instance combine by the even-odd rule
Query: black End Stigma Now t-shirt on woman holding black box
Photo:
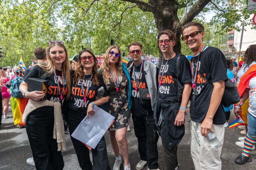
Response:
MULTIPOLYGON (((63 82, 62 82, 61 71, 56 70, 56 76, 57 76, 57 79, 59 81, 60 92, 63 93, 63 82)), ((61 101, 60 100, 60 93, 58 91, 57 81, 54 78, 53 73, 50 76, 45 77, 43 69, 40 66, 36 65, 30 70, 28 75, 24 78, 24 81, 28 84, 28 86, 29 86, 28 78, 31 78, 31 77, 48 80, 47 100, 50 100, 52 102, 60 102, 61 101)), ((65 82, 65 84, 66 84, 66 82, 65 82)), ((63 95, 63 100, 65 99, 67 93, 68 93, 68 89, 65 85, 64 93, 62 94, 63 95)))

